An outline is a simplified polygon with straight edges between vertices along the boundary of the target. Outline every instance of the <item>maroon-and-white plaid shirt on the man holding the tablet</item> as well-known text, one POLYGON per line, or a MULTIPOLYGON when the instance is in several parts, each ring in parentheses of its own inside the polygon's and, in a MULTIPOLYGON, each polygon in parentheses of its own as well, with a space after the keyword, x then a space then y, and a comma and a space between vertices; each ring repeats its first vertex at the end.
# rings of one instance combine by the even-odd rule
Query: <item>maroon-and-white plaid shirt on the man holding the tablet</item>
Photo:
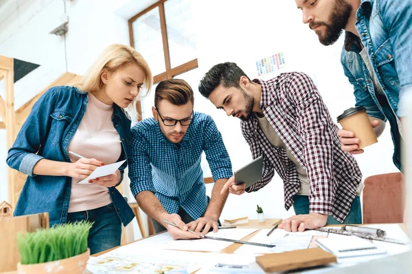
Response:
MULTIPOLYGON (((362 174, 350 153, 341 150, 338 127, 322 101, 312 79, 304 73, 282 73, 262 85, 260 109, 273 129, 308 174, 310 212, 332 214, 343 222, 350 211, 362 174)), ((242 134, 251 147, 253 159, 264 155, 262 180, 248 192, 271 182, 274 171, 284 180, 285 208, 300 189, 296 166, 286 150, 273 147, 259 121, 251 115, 242 121, 242 134)))

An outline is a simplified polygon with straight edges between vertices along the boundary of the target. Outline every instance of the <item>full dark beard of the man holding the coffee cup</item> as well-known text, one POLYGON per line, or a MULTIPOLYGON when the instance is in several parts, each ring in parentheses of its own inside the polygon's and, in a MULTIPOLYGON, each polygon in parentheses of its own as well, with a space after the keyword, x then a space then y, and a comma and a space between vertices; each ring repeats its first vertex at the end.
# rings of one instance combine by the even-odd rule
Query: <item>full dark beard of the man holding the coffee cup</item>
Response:
POLYGON ((332 23, 311 22, 309 27, 310 29, 313 29, 313 27, 325 26, 325 34, 323 36, 321 36, 321 32, 315 32, 322 45, 332 45, 341 36, 343 29, 345 29, 347 22, 349 21, 351 12, 352 5, 350 5, 350 3, 347 3, 345 0, 336 0, 329 18, 329 21, 332 23))

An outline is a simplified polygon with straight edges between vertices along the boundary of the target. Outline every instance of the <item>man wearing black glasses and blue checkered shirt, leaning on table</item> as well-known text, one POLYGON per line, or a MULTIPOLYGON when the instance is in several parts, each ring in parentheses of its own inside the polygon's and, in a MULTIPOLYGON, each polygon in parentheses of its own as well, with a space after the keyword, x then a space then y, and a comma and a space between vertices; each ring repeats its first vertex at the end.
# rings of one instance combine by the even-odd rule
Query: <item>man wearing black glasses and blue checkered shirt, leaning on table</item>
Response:
POLYGON ((193 90, 187 82, 162 81, 155 90, 154 117, 132 129, 130 189, 152 218, 155 232, 168 229, 174 239, 199 238, 187 229, 217 232, 228 195, 220 190, 232 175, 229 154, 214 121, 194 112, 193 105, 193 90), (201 169, 203 151, 215 182, 210 201, 201 169))

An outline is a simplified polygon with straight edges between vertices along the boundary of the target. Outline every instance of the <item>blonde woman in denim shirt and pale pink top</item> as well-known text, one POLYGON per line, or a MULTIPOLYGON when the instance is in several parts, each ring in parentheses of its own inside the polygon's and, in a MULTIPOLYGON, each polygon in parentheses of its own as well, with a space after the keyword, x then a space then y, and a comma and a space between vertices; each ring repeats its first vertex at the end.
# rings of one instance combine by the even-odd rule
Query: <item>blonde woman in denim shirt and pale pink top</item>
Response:
POLYGON ((122 223, 126 226, 135 216, 115 188, 127 162, 90 184, 78 182, 98 166, 127 158, 130 119, 123 109, 142 87, 149 92, 151 86, 144 58, 116 44, 103 51, 82 82, 47 90, 8 152, 8 165, 29 175, 14 215, 49 212, 50 225, 92 221, 92 254, 120 245, 122 223))

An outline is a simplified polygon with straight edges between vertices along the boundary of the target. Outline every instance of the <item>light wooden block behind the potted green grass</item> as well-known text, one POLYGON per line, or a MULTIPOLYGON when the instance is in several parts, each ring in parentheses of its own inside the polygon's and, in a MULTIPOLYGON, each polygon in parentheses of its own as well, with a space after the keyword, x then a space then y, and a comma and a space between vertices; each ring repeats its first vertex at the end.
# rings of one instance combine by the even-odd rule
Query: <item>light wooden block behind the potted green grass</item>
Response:
POLYGON ((49 213, 31 214, 0 220, 0 272, 16 271, 20 255, 17 249, 19 232, 34 232, 38 228, 49 228, 49 213))

